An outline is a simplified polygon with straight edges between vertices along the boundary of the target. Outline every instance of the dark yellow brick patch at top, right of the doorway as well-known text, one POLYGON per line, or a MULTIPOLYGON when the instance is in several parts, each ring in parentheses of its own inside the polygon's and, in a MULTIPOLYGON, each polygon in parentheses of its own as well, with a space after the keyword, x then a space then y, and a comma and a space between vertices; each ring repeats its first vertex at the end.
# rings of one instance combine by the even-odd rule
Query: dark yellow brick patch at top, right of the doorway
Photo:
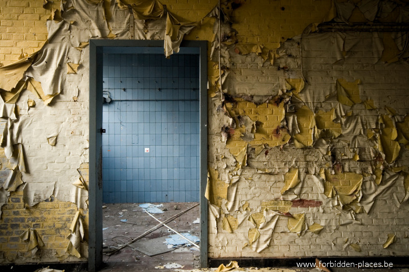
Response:
POLYGON ((275 49, 280 42, 300 35, 312 22, 322 22, 331 6, 328 0, 242 1, 232 16, 239 42, 260 43, 275 49))

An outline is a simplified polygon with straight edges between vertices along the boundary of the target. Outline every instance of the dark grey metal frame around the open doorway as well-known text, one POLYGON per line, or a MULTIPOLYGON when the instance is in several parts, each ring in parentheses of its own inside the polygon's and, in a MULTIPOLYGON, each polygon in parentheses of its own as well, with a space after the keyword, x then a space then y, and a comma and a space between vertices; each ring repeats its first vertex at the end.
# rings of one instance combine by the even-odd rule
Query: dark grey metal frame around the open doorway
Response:
MULTIPOLYGON (((161 47, 163 40, 89 40, 89 219, 88 271, 102 266, 102 54, 112 47, 161 47)), ((200 267, 208 266, 207 41, 183 41, 181 48, 199 49, 199 203, 200 267)), ((164 56, 165 57, 165 56, 164 56)))

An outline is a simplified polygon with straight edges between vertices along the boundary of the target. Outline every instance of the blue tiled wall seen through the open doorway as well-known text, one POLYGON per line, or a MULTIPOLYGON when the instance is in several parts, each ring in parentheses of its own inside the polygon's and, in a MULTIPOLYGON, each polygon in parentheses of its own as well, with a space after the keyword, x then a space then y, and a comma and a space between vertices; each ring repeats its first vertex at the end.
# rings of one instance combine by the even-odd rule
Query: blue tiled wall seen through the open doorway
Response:
POLYGON ((105 203, 199 200, 198 64, 197 55, 103 55, 105 203))

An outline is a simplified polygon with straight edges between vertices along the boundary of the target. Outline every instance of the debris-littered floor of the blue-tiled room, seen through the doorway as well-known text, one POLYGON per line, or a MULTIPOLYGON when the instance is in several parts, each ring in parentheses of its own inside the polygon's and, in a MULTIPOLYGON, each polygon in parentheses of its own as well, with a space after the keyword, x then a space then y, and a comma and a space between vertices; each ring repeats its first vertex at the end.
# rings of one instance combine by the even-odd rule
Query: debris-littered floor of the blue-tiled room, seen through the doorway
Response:
MULTIPOLYGON (((200 224, 192 224, 200 217, 199 203, 104 203, 103 205, 107 206, 103 210, 103 228, 109 228, 103 231, 103 261, 108 265, 102 269, 103 272, 116 271, 114 267, 123 266, 124 263, 129 265, 129 271, 154 271, 155 266, 168 263, 178 263, 183 268, 172 268, 167 271, 180 269, 187 272, 199 267, 198 248, 188 246, 189 241, 184 241, 182 245, 175 247, 171 245, 172 247, 168 248, 165 239, 170 238, 169 235, 174 233, 170 233, 162 223, 157 222, 144 211, 149 207, 166 209, 167 211, 158 214, 157 218, 179 233, 190 233, 199 237, 200 224), (175 205, 179 210, 173 209, 175 205), (118 217, 121 213, 123 217, 118 217), (116 226, 117 223, 121 225, 116 226), (159 253, 159 248, 162 248, 164 253, 159 253)), ((183 238, 180 237, 180 239, 183 238)))

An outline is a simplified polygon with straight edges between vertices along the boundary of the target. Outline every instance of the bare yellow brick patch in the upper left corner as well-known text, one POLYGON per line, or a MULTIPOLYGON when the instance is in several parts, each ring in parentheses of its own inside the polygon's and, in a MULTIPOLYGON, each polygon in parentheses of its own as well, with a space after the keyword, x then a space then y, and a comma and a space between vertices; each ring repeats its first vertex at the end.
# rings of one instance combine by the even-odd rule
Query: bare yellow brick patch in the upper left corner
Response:
POLYGON ((42 0, 0 1, 0 63, 8 65, 21 53, 38 51, 48 37, 46 19, 50 11, 42 0))

